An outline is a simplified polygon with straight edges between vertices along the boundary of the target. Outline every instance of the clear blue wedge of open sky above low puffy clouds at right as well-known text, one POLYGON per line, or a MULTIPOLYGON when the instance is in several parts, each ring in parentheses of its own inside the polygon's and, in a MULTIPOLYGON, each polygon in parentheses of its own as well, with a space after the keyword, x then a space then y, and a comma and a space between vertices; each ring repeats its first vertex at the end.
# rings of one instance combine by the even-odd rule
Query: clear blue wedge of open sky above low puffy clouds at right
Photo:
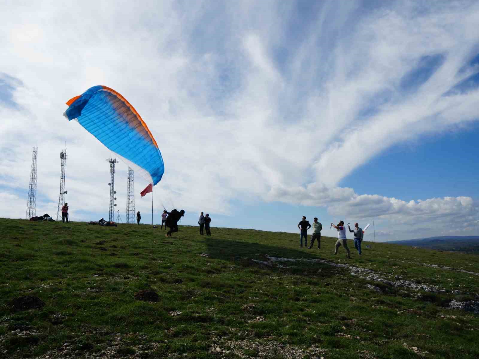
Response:
POLYGON ((475 124, 393 146, 354 169, 340 186, 404 201, 464 195, 479 200, 478 138, 475 124))

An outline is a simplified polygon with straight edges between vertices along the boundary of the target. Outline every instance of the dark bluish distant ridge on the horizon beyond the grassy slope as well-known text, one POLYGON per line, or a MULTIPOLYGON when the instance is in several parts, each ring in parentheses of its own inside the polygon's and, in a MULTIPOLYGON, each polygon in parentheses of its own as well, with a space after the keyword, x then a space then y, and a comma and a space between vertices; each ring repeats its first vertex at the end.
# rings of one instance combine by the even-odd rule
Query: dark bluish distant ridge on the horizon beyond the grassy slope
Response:
POLYGON ((404 241, 388 241, 384 243, 455 252, 479 253, 479 236, 438 236, 404 241))

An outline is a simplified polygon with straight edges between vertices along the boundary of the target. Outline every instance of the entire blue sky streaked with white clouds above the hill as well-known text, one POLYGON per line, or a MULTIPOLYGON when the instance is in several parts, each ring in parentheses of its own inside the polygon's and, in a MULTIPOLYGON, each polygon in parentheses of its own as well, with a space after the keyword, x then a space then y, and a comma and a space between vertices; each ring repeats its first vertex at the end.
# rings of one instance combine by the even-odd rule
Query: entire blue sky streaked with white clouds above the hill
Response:
MULTIPOLYGON (((32 146, 37 213, 56 214, 65 143, 70 216, 107 216, 114 154, 62 116, 106 85, 160 146, 157 220, 165 205, 183 224, 203 210, 226 227, 296 232, 306 215, 374 220, 378 240, 478 234, 477 2, 91 6, 0 14, 0 216, 25 215, 32 146)), ((121 162, 116 184, 124 218, 121 162)), ((147 222, 147 183, 135 185, 147 222)))

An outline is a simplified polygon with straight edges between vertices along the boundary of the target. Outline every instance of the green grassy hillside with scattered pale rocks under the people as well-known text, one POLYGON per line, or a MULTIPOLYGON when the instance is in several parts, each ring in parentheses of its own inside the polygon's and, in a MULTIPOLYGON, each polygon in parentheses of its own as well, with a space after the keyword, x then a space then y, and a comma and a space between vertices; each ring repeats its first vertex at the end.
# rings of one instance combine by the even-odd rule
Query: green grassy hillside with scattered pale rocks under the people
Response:
MULTIPOLYGON (((2 358, 479 358, 479 257, 0 219, 2 358), (158 296, 156 296, 156 294, 158 296)), ((367 237, 365 238, 368 239, 367 237)))

